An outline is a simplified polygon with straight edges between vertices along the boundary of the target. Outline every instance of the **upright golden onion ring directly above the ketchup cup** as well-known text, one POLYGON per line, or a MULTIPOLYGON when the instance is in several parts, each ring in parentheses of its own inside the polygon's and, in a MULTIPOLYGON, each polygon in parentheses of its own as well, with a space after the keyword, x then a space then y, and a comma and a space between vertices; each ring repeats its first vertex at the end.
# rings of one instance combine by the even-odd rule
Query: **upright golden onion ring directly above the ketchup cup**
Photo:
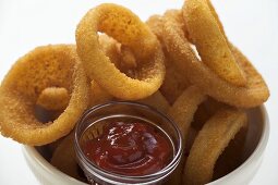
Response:
POLYGON ((155 35, 130 10, 100 4, 82 18, 76 28, 77 53, 87 75, 120 99, 142 99, 154 94, 165 76, 164 53, 155 35), (105 32, 131 48, 141 62, 137 78, 121 73, 99 47, 97 32, 105 32), (144 61, 144 62, 143 62, 144 61))

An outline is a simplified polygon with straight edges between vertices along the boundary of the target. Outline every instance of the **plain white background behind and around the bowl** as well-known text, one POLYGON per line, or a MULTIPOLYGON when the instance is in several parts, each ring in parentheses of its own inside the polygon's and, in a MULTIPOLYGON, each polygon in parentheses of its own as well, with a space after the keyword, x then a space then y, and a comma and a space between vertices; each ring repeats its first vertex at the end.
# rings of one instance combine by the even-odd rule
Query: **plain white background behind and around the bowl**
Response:
MULTIPOLYGON (((87 10, 109 1, 0 0, 0 79, 14 61, 36 46, 74 42, 75 26, 87 10)), ((181 8, 183 0, 110 0, 123 4, 144 21, 166 9, 181 8)), ((265 77, 271 92, 266 103, 270 138, 252 185, 278 184, 278 1, 214 0, 230 40, 265 77)), ((1 109, 1 108, 0 108, 1 109)), ((21 145, 0 136, 0 184, 38 184, 28 170, 21 145)))

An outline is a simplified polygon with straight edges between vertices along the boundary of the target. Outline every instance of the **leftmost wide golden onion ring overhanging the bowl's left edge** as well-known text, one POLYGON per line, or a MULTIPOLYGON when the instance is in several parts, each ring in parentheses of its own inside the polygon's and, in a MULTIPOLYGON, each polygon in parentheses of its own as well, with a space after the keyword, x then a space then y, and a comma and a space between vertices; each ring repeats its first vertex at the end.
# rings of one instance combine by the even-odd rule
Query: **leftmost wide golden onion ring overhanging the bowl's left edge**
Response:
POLYGON ((14 140, 39 146, 65 136, 88 103, 88 82, 74 46, 38 47, 16 61, 0 88, 1 134, 14 140), (70 102, 53 122, 35 116, 40 92, 48 87, 69 91, 70 102))

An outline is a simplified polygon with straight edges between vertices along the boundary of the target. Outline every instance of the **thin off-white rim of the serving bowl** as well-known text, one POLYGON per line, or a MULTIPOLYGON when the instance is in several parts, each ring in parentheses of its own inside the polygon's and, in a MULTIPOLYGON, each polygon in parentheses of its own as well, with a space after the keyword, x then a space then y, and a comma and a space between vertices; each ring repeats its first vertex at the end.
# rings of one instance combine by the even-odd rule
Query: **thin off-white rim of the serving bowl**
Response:
MULTIPOLYGON (((270 131, 269 118, 268 118, 268 113, 267 113, 264 104, 256 107, 255 109, 259 109, 262 116, 263 116, 263 121, 264 121, 263 128, 262 128, 263 130, 262 136, 259 138, 259 141, 258 141, 255 150, 234 171, 230 172, 229 174, 227 174, 216 181, 208 183, 207 185, 216 185, 216 184, 223 183, 225 181, 227 181, 229 178, 234 178, 238 175, 238 173, 240 173, 242 170, 249 169, 249 166, 252 165, 252 161, 254 161, 255 159, 259 159, 259 157, 263 156, 265 148, 267 146, 267 143, 268 143, 268 138, 269 138, 269 131, 270 131)), ((64 180, 65 182, 75 183, 76 185, 87 185, 86 183, 81 182, 74 177, 71 177, 68 174, 56 169, 35 149, 35 147, 23 145, 22 150, 23 150, 26 162, 28 162, 31 160, 35 160, 35 163, 37 163, 36 169, 40 168, 41 170, 53 175, 58 180, 64 180)))

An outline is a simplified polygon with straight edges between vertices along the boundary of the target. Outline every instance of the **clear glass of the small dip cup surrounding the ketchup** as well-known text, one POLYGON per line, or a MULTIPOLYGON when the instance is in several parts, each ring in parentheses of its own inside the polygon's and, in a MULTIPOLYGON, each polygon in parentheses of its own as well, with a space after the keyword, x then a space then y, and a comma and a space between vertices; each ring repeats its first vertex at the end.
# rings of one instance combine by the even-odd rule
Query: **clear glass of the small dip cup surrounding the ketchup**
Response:
POLYGON ((137 102, 112 101, 93 107, 83 114, 75 128, 74 148, 77 162, 92 184, 150 185, 166 181, 178 166, 182 157, 182 137, 176 123, 156 109, 137 102), (167 166, 153 174, 128 176, 106 171, 87 159, 82 150, 83 144, 99 136, 102 127, 110 121, 124 121, 125 119, 150 123, 166 134, 173 149, 172 160, 167 166))

